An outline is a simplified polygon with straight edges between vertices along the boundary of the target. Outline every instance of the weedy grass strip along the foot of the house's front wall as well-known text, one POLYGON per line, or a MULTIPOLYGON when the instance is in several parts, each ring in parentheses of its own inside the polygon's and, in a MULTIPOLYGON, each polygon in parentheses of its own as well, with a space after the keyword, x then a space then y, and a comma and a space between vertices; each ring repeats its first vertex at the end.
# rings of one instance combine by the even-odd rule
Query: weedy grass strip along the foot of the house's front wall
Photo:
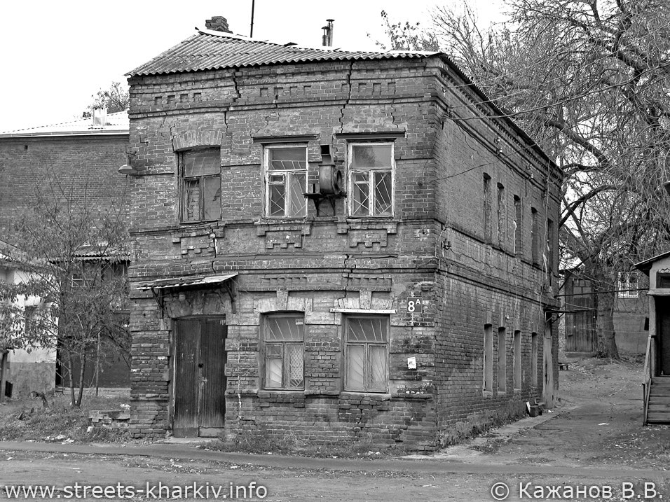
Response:
POLYGON ((270 435, 266 431, 245 431, 233 440, 219 438, 217 442, 203 446, 219 452, 238 452, 255 454, 281 454, 313 456, 334 459, 378 459, 390 456, 402 456, 408 452, 402 446, 375 445, 367 438, 360 440, 342 440, 315 444, 303 435, 285 432, 270 435))

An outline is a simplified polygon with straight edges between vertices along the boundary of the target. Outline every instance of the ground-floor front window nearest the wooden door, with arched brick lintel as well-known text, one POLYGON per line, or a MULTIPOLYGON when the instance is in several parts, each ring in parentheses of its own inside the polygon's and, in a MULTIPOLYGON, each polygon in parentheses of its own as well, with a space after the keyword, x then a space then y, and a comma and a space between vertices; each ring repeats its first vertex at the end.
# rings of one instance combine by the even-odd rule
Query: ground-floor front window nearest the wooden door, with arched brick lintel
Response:
POLYGON ((267 316, 264 322, 265 388, 304 389, 304 318, 299 314, 267 316))

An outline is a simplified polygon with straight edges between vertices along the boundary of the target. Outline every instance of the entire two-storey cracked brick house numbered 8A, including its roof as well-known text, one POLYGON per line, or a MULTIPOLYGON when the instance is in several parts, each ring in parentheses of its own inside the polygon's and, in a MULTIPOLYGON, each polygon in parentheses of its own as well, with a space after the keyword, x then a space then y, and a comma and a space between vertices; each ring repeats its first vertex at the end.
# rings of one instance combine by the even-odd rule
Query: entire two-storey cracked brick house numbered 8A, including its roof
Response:
POLYGON ((561 173, 449 57, 201 30, 129 82, 135 436, 552 405, 561 173))

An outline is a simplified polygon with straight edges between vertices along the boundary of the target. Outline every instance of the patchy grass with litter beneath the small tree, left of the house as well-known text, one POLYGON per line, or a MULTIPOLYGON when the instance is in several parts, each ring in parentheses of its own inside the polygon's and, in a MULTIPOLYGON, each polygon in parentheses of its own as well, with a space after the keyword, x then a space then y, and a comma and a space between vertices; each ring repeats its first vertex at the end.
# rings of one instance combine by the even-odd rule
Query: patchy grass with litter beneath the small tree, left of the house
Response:
POLYGON ((93 428, 88 433, 88 414, 91 410, 120 410, 128 404, 127 393, 110 396, 87 396, 81 407, 70 406, 69 395, 47 398, 43 407, 40 398, 10 400, 0 405, 0 440, 34 440, 57 442, 125 442, 125 431, 93 428))

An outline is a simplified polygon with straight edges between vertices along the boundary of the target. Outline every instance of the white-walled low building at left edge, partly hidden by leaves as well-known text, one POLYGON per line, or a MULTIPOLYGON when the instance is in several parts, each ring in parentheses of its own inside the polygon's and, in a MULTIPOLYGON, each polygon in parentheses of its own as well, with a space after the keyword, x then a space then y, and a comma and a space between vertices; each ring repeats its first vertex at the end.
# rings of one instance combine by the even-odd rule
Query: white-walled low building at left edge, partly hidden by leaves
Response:
MULTIPOLYGON (((29 272, 15 260, 8 258, 7 251, 17 250, 11 244, 0 241, 0 283, 22 284, 29 278, 29 272)), ((18 307, 15 314, 21 329, 25 329, 36 312, 39 298, 18 298, 13 305, 18 307)), ((46 332, 48 333, 48 332, 46 332)), ((0 391, 2 396, 26 397, 31 392, 48 392, 54 388, 56 351, 44 347, 20 349, 0 335, 0 391), (11 391, 9 391, 11 389, 11 391)), ((0 398, 0 400, 2 400, 0 398)))

